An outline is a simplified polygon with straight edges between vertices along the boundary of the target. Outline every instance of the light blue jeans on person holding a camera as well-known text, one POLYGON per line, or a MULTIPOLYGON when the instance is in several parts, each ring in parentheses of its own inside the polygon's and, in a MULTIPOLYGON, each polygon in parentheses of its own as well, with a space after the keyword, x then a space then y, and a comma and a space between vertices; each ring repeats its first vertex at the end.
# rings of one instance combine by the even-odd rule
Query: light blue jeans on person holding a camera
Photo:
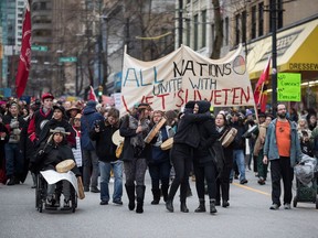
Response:
POLYGON ((113 202, 121 201, 123 196, 123 161, 116 162, 103 162, 99 161, 99 172, 100 172, 100 201, 109 201, 109 190, 108 183, 110 178, 110 170, 113 169, 115 182, 114 182, 114 193, 113 202))

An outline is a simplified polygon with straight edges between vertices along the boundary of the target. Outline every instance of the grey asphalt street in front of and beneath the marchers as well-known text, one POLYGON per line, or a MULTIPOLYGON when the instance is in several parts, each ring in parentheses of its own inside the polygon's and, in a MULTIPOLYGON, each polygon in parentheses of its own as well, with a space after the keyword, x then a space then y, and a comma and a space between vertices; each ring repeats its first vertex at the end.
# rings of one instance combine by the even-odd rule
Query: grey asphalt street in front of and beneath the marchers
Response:
MULTIPOLYGON (((194 182, 190 182, 193 196, 187 201, 189 214, 180 213, 178 196, 173 214, 166 210, 162 199, 159 205, 150 205, 152 195, 148 172, 144 214, 128 210, 125 191, 123 206, 113 203, 100 206, 99 194, 86 193, 86 198, 78 201, 75 214, 61 210, 40 214, 34 207, 35 195, 29 176, 22 185, 0 185, 0 237, 318 237, 315 204, 298 203, 292 210, 282 207, 269 210, 271 181, 259 186, 251 171, 246 172, 246 177, 247 185, 240 185, 237 180, 231 185, 230 207, 218 207, 218 214, 210 215, 194 213, 198 206, 194 182)), ((295 195, 295 186, 293 193, 295 195)))

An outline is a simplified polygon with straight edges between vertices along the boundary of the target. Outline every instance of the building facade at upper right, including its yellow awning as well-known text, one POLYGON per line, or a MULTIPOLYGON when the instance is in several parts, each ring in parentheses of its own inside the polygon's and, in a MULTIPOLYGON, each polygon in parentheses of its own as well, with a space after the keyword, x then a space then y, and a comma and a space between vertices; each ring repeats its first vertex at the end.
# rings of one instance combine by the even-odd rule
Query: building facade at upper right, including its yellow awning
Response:
MULTIPOLYGON (((212 1, 183 0, 181 4, 182 43, 209 57, 216 34, 212 1)), ((179 0, 176 1, 176 8, 178 6, 179 0)), ((316 107, 318 6, 310 0, 220 0, 220 10, 223 28, 220 56, 226 55, 240 43, 245 45, 247 69, 254 85, 272 55, 272 32, 276 22, 277 73, 300 74, 303 96, 298 102, 299 109, 316 107)), ((176 25, 180 24, 177 22, 176 25)), ((269 98, 271 83, 269 79, 269 98)))

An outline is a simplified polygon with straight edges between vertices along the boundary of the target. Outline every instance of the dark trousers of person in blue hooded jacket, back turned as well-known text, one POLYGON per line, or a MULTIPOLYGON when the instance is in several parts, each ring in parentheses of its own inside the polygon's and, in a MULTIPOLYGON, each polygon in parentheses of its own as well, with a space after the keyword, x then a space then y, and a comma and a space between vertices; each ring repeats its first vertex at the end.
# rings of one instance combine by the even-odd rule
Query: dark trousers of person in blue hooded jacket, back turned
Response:
POLYGON ((83 150, 83 185, 84 187, 97 187, 98 158, 95 150, 83 150), (92 171, 92 174, 91 174, 92 171))

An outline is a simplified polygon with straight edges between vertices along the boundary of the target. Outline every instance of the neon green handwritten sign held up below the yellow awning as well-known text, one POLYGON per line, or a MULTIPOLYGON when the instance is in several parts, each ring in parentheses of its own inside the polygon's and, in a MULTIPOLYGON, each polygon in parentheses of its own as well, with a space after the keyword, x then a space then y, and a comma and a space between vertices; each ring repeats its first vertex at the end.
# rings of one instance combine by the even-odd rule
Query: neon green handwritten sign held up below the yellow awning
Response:
POLYGON ((277 99, 279 101, 300 101, 301 74, 278 73, 277 86, 277 99))

